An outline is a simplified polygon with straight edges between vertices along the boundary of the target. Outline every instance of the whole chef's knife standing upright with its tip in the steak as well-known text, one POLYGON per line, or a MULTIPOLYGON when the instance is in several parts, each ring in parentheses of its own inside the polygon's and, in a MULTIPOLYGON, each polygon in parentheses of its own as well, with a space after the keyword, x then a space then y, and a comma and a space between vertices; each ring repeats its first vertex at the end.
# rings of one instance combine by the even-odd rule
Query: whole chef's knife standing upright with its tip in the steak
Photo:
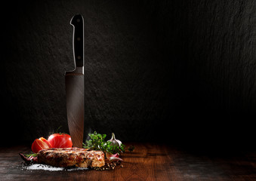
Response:
POLYGON ((82 148, 84 135, 84 19, 81 14, 72 17, 73 55, 75 69, 66 72, 66 114, 74 147, 82 148))

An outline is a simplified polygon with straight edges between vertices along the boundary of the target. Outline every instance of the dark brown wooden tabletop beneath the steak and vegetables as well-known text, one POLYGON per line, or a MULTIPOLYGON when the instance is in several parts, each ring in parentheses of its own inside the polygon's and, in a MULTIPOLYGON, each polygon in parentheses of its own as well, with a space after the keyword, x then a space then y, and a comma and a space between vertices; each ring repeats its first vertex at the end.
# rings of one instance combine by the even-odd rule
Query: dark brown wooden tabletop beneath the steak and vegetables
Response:
POLYGON ((19 152, 28 146, 0 147, 0 180, 256 180, 255 153, 205 155, 156 143, 136 143, 114 170, 26 170, 19 152))

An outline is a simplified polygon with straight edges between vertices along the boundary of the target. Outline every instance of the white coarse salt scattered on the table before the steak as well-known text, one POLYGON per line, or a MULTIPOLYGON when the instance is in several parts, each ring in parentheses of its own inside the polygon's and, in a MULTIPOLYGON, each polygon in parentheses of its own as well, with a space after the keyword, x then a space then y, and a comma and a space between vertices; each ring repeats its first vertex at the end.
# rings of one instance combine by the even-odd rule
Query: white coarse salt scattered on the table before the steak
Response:
POLYGON ((67 171, 73 171, 73 170, 88 170, 88 168, 86 167, 72 167, 72 168, 64 168, 64 167, 52 167, 49 165, 45 165, 45 164, 32 164, 29 165, 26 168, 26 170, 46 170, 46 171, 63 171, 63 170, 67 170, 67 171))

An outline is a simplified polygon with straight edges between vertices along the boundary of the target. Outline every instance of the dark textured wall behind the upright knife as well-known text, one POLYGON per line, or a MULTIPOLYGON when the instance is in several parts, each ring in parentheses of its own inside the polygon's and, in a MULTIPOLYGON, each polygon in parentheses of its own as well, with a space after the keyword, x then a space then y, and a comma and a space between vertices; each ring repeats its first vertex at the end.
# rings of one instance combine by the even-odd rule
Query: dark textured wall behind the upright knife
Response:
POLYGON ((85 139, 254 146, 254 1, 22 1, 2 11, 1 144, 68 133, 64 73, 85 19, 85 139), (8 131, 8 134, 5 132, 8 131))

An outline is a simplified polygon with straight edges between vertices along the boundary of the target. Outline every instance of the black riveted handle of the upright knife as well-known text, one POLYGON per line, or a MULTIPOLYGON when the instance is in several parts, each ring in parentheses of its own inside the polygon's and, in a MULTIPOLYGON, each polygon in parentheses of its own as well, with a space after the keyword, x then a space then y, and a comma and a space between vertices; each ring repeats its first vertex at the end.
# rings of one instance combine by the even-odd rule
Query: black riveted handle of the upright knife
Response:
POLYGON ((76 67, 81 67, 84 66, 84 18, 81 14, 76 14, 70 24, 74 27, 73 52, 76 67))

